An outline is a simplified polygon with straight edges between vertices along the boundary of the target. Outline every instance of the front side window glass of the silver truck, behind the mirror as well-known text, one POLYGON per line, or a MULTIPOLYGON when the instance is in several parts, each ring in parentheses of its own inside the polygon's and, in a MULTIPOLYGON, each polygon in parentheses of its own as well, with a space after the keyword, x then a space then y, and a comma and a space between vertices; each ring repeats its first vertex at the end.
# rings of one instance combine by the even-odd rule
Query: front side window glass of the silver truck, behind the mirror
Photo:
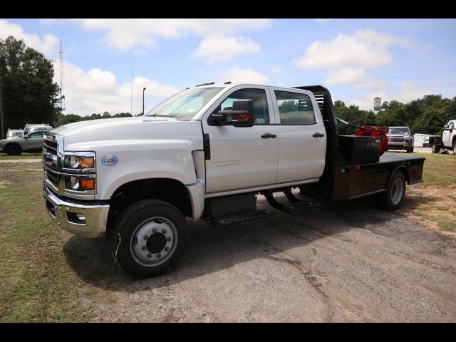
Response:
POLYGON ((255 125, 269 123, 268 101, 264 89, 246 88, 234 91, 220 105, 219 110, 232 110, 235 100, 254 100, 255 125))

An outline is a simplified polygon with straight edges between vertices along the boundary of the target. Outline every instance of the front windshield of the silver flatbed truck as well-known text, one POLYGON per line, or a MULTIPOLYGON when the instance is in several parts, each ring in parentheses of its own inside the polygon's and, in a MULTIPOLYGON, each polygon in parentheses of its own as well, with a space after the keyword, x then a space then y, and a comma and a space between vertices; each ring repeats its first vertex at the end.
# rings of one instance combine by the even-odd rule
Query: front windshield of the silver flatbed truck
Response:
POLYGON ((177 120, 192 120, 222 87, 187 89, 156 105, 145 116, 166 116, 177 120))

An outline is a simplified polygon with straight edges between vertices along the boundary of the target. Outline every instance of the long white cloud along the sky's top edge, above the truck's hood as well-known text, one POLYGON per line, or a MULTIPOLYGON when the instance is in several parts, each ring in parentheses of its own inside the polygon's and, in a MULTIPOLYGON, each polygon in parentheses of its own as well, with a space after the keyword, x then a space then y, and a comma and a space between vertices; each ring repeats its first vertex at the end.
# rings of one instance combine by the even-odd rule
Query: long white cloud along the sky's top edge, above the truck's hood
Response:
MULTIPOLYGON (((270 19, 70 19, 88 31, 105 31, 103 42, 121 51, 153 48, 157 39, 233 35, 261 30, 270 19)), ((55 21, 54 21, 55 22, 55 21)), ((52 21, 46 21, 50 24, 52 21)))

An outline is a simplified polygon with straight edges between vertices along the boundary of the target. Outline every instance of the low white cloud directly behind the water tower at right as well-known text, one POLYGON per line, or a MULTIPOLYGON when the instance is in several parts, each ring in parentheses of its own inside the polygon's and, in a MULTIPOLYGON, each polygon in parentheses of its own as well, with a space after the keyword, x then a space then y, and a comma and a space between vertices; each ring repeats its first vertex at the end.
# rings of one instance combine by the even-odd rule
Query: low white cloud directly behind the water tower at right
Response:
POLYGON ((422 98, 423 95, 435 93, 433 90, 415 86, 409 82, 403 82, 397 88, 383 89, 373 91, 366 94, 363 98, 356 98, 351 101, 347 101, 348 105, 358 105, 361 109, 369 110, 373 109, 373 98, 381 98, 381 102, 398 100, 402 103, 407 103, 417 98, 422 98))

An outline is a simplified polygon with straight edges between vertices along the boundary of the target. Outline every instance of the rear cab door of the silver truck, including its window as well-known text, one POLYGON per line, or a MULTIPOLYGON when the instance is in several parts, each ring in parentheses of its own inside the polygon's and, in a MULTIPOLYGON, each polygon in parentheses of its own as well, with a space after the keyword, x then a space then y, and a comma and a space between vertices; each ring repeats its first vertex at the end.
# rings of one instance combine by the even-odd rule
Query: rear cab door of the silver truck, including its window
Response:
POLYGON ((279 133, 277 183, 318 180, 326 157, 326 130, 308 90, 271 88, 279 133))

